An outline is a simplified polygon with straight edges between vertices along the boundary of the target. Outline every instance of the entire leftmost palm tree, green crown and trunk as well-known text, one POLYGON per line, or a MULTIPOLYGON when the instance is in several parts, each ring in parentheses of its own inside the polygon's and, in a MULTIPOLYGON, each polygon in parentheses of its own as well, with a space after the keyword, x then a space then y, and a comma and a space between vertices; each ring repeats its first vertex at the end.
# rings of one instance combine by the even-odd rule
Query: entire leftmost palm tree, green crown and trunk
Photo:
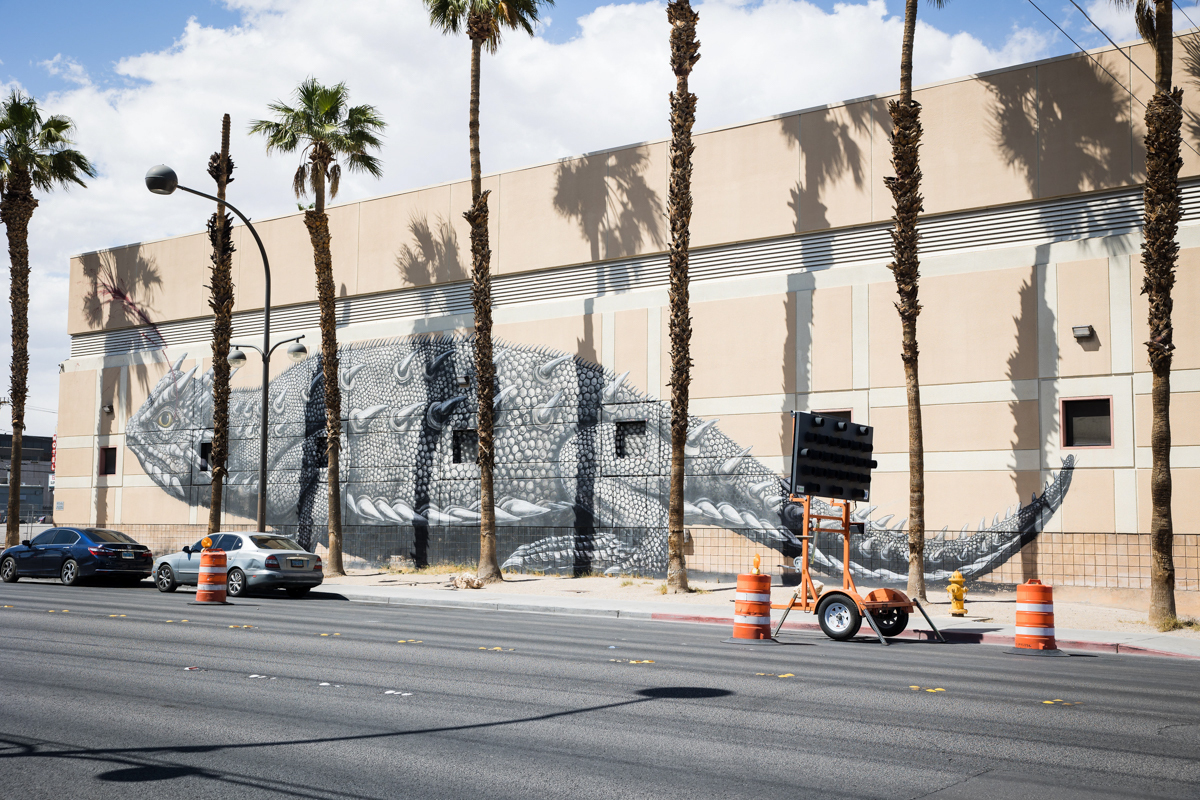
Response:
POLYGON ((13 90, 0 103, 0 222, 8 234, 12 270, 12 468, 5 547, 20 540, 20 446, 29 391, 29 221, 37 207, 34 190, 86 186, 83 176, 96 176, 91 162, 71 146, 74 132, 66 116, 43 120, 37 101, 20 91, 13 90))

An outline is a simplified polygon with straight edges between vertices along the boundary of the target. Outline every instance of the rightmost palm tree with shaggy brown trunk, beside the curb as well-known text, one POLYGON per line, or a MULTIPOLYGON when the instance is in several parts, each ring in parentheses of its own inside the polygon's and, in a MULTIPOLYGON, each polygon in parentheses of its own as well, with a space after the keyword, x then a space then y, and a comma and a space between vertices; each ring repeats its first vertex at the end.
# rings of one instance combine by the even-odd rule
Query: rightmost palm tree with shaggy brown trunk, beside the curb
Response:
POLYGON ((1150 299, 1150 341, 1146 350, 1153 375, 1150 451, 1150 621, 1175 619, 1175 539, 1171 519, 1171 288, 1180 246, 1178 176, 1183 160, 1180 127, 1183 90, 1171 85, 1174 20, 1171 0, 1114 0, 1133 7, 1141 37, 1154 48, 1154 96, 1146 106, 1146 187, 1142 192, 1141 260, 1146 269, 1141 293, 1150 299))

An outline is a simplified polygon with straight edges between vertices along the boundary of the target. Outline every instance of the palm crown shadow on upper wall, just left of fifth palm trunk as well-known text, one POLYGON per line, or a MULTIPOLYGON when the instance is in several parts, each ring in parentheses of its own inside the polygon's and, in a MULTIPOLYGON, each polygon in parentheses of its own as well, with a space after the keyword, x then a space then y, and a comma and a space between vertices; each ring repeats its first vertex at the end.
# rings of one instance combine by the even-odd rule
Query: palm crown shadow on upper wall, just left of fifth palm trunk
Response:
POLYGON ((649 168, 649 148, 558 164, 554 211, 576 221, 593 261, 666 249, 666 211, 662 198, 646 180, 649 168))

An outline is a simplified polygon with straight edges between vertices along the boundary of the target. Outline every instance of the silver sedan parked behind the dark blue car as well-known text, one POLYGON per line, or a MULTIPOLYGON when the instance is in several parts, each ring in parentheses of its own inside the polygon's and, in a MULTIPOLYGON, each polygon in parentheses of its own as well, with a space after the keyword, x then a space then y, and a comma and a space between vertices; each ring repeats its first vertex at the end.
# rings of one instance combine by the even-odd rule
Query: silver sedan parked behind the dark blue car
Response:
MULTIPOLYGON (((226 593, 230 597, 251 589, 286 589, 302 597, 325 579, 320 557, 278 534, 217 534, 212 548, 226 552, 226 593)), ((199 583, 200 542, 155 559, 154 582, 158 591, 175 591, 180 584, 199 583)))

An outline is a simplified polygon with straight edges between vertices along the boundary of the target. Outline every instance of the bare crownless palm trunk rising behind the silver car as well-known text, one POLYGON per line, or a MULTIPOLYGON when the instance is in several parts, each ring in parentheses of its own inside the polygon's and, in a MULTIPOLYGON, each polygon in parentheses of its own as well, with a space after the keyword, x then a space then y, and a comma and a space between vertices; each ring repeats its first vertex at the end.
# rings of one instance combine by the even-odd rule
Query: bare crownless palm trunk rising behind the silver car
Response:
MULTIPOLYGON (((221 120, 221 152, 209 158, 209 175, 217 182, 217 199, 224 200, 233 161, 229 158, 229 115, 221 120)), ((224 203, 209 219, 209 241, 212 243, 212 285, 209 287, 209 307, 212 308, 212 450, 209 453, 209 475, 212 476, 212 499, 209 503, 209 535, 221 530, 221 506, 224 488, 226 459, 229 453, 229 337, 233 332, 233 217, 226 213, 224 203)))

